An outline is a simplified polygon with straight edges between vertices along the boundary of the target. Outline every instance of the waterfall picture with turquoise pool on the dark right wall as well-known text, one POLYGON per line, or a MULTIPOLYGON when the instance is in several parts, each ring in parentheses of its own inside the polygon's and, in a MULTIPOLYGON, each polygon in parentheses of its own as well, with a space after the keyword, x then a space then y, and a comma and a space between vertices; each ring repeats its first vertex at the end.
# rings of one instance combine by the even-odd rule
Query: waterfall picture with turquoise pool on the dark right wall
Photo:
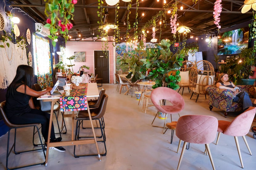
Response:
POLYGON ((248 48, 249 27, 235 29, 219 34, 218 55, 239 54, 248 48))

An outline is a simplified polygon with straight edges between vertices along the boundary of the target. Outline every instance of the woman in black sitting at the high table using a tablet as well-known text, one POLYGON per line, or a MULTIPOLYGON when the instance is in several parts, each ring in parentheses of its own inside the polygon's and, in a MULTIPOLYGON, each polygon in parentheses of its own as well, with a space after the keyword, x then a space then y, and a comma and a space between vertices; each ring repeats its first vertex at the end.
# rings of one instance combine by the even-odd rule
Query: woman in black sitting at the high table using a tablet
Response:
MULTIPOLYGON (((27 124, 40 123, 41 132, 45 142, 47 142, 50 114, 35 109, 32 97, 39 97, 51 91, 47 87, 44 91, 34 91, 31 89, 34 77, 34 70, 28 65, 19 65, 16 75, 7 89, 5 112, 11 123, 27 124)), ((51 142, 60 142, 61 137, 56 138, 52 124, 51 142)), ((50 147, 59 152, 64 152, 63 147, 50 147)))

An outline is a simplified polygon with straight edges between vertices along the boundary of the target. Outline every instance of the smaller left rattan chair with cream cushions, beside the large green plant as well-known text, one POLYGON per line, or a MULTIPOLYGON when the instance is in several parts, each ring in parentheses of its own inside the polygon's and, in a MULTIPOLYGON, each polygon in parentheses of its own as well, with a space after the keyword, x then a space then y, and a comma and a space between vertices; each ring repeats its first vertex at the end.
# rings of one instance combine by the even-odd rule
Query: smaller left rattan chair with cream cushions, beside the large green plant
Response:
MULTIPOLYGON (((188 92, 189 91, 189 73, 192 69, 192 67, 194 66, 194 64, 191 61, 183 61, 182 62, 182 66, 180 67, 180 82, 178 82, 180 89, 183 87, 182 89, 182 94, 183 95, 183 91, 184 91, 184 87, 188 87, 188 92)), ((180 91, 179 89, 179 91, 180 91)), ((178 91, 178 93, 179 93, 178 91)))

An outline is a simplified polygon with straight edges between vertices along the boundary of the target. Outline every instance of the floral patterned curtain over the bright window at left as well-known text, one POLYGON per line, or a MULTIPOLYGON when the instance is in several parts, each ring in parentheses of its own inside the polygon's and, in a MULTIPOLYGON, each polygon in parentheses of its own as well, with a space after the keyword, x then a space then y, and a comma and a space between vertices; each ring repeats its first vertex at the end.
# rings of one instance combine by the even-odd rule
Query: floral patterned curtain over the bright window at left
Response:
POLYGON ((52 87, 52 66, 49 40, 35 35, 37 83, 42 89, 52 87))

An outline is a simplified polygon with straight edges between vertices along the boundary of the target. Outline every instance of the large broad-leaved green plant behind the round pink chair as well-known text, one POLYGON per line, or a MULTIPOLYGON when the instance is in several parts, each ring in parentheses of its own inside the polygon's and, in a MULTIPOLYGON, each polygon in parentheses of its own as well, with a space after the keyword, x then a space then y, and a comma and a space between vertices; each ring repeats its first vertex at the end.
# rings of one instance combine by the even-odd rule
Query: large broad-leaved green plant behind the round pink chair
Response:
POLYGON ((158 46, 161 48, 160 52, 155 52, 151 50, 147 59, 147 68, 151 71, 149 72, 150 78, 155 81, 156 87, 169 87, 171 89, 178 89, 178 81, 180 81, 180 67, 184 60, 184 52, 173 54, 170 51, 171 46, 170 40, 162 40, 158 46), (177 70, 177 71, 176 71, 177 70), (176 71, 176 74, 168 75, 170 71, 176 71))

